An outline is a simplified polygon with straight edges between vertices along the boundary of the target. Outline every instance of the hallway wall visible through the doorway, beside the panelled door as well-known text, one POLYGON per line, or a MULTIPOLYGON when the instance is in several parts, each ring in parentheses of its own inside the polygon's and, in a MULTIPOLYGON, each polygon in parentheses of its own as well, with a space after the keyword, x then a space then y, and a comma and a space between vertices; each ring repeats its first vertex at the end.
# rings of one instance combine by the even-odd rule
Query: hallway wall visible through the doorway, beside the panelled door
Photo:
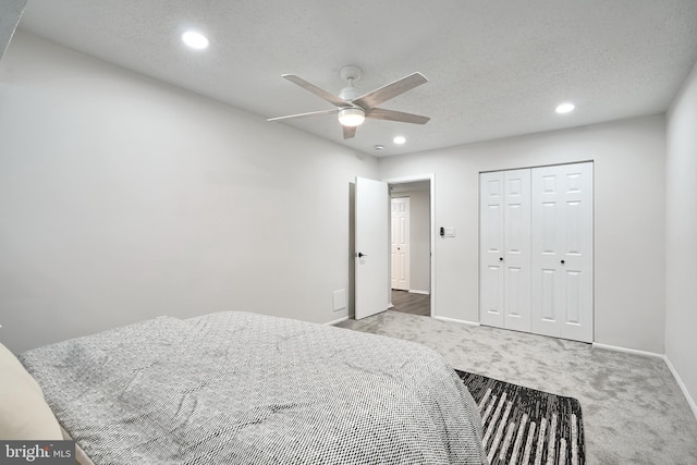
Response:
POLYGON ((428 191, 405 191, 393 198, 409 198, 409 291, 431 291, 431 217, 428 191))

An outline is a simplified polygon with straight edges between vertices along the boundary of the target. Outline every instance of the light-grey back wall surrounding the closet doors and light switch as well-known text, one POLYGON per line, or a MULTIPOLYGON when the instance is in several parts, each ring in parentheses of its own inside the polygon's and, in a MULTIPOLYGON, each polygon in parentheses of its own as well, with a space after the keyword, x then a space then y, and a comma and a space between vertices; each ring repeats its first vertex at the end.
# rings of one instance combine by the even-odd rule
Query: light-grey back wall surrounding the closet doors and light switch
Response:
POLYGON ((480 171, 595 161, 595 341, 664 352, 663 115, 380 159, 383 179, 436 173, 436 315, 479 321, 480 171))

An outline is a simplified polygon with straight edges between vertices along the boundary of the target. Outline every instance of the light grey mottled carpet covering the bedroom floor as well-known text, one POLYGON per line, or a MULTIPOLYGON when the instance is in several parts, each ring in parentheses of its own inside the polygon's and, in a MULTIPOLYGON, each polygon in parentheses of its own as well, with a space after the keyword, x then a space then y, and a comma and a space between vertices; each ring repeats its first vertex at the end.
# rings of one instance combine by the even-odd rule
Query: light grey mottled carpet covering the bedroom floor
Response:
POLYGON ((390 310, 338 326, 419 342, 453 368, 576 397, 589 465, 697 464, 697 420, 660 358, 390 310))

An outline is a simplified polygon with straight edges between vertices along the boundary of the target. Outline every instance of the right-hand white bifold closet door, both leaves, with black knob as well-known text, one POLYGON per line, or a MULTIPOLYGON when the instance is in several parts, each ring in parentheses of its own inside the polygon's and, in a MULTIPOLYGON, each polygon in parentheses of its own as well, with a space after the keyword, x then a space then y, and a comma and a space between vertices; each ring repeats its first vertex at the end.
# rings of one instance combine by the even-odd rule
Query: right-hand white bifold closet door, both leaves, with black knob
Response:
POLYGON ((592 342, 592 163, 531 174, 533 332, 592 342))

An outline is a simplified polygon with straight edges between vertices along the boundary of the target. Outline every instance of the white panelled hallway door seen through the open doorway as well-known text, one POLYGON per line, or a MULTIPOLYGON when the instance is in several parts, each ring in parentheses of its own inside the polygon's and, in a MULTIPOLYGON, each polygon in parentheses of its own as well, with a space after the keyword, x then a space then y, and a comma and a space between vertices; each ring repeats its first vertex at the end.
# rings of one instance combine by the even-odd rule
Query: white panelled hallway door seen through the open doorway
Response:
POLYGON ((409 290, 409 198, 399 197, 391 201, 392 228, 392 289, 409 290))

